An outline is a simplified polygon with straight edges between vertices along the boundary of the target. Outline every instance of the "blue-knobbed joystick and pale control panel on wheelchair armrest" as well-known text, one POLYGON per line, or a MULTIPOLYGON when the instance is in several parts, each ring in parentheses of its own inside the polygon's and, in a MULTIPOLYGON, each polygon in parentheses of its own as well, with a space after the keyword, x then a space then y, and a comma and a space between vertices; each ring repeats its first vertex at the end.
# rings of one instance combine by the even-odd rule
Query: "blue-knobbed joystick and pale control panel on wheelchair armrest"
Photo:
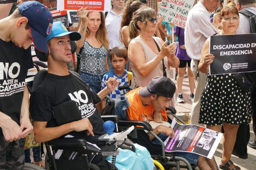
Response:
POLYGON ((125 138, 127 138, 127 135, 131 133, 131 131, 134 129, 134 126, 131 126, 130 128, 121 131, 120 133, 113 133, 114 130, 114 123, 109 123, 112 121, 106 121, 103 124, 104 130, 107 132, 107 134, 101 135, 98 139, 99 141, 107 141, 107 142, 123 142, 125 138))

